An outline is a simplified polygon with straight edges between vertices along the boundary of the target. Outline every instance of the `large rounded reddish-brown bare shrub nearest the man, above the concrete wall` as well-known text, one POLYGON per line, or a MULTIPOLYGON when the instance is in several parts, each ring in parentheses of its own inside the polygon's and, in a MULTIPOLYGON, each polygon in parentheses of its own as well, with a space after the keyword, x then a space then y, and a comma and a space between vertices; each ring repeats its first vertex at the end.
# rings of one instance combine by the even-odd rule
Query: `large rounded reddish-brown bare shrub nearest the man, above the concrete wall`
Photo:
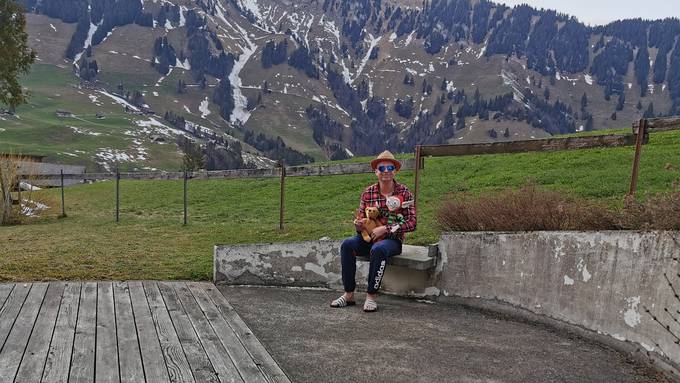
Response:
POLYGON ((604 205, 525 186, 494 194, 456 194, 435 217, 445 231, 605 230, 620 228, 604 205))

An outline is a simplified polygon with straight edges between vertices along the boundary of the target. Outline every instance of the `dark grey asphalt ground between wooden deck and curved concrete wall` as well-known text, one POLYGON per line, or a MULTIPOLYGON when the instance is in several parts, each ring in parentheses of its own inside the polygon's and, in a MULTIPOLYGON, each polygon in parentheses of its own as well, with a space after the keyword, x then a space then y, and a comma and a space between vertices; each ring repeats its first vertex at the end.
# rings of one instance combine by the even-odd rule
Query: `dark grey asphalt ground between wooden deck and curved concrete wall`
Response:
POLYGON ((333 291, 219 289, 294 382, 665 381, 604 346, 461 306, 382 296, 365 314, 329 308, 333 291))

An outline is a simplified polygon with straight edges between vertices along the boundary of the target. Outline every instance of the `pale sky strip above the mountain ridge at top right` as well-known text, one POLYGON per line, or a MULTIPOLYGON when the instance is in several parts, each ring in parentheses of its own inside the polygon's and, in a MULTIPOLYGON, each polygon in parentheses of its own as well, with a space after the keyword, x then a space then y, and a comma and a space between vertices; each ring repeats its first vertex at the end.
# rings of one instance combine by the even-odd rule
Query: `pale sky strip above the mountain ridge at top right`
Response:
POLYGON ((584 24, 602 25, 618 19, 680 18, 678 0, 496 0, 508 6, 529 4, 534 8, 554 9, 576 16, 584 24))

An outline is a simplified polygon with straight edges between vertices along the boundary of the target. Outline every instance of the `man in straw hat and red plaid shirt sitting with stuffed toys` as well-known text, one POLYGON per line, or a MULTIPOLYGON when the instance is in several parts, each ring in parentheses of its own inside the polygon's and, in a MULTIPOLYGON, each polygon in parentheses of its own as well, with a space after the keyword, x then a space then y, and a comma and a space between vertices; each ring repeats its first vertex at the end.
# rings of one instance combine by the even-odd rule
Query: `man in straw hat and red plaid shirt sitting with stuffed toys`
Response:
POLYGON ((416 209, 413 205, 413 195, 403 184, 395 181, 394 177, 401 168, 392 153, 384 151, 371 161, 378 182, 367 187, 361 194, 361 202, 354 226, 357 234, 345 239, 340 246, 342 264, 342 284, 345 293, 331 302, 331 307, 340 308, 355 305, 354 289, 356 287, 356 257, 369 256, 368 290, 364 303, 365 312, 378 310, 376 295, 385 274, 385 266, 389 257, 401 254, 404 233, 416 229, 416 209), (399 206, 388 209, 387 201, 399 201, 399 206), (378 220, 381 226, 370 232, 370 242, 364 240, 361 231, 367 223, 366 208, 378 207, 378 220))

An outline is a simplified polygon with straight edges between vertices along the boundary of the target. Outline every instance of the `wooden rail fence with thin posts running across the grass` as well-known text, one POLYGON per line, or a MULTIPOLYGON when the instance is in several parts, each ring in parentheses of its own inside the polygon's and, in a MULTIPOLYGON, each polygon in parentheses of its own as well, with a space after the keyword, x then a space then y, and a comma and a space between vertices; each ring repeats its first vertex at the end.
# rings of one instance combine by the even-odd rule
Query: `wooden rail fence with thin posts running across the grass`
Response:
MULTIPOLYGON (((599 136, 558 137, 548 139, 493 142, 482 144, 454 144, 454 145, 418 145, 415 148, 415 158, 401 160, 402 170, 415 170, 415 202, 417 204, 420 193, 421 170, 426 157, 449 157, 465 155, 484 155, 501 153, 525 153, 577 150, 589 148, 612 148, 635 146, 635 156, 631 171, 629 195, 634 195, 637 189, 638 168, 641 148, 648 143, 649 133, 680 129, 680 117, 655 119, 641 119, 633 123, 629 134, 611 134, 599 136), (642 129, 640 129, 640 127, 642 129)), ((279 162, 274 168, 236 169, 216 171, 192 172, 106 172, 106 173, 78 173, 40 174, 32 176, 37 180, 58 180, 61 189, 61 214, 66 217, 65 182, 66 181, 103 181, 115 180, 115 218, 120 222, 120 181, 121 180, 182 180, 183 181, 183 224, 188 223, 188 184, 190 180, 216 179, 255 179, 278 178, 280 182, 279 196, 279 229, 284 229, 285 213, 285 181, 288 177, 311 177, 349 174, 368 174, 374 170, 368 163, 341 163, 316 166, 285 166, 279 162)), ((21 198, 21 197, 20 197, 21 198)))

